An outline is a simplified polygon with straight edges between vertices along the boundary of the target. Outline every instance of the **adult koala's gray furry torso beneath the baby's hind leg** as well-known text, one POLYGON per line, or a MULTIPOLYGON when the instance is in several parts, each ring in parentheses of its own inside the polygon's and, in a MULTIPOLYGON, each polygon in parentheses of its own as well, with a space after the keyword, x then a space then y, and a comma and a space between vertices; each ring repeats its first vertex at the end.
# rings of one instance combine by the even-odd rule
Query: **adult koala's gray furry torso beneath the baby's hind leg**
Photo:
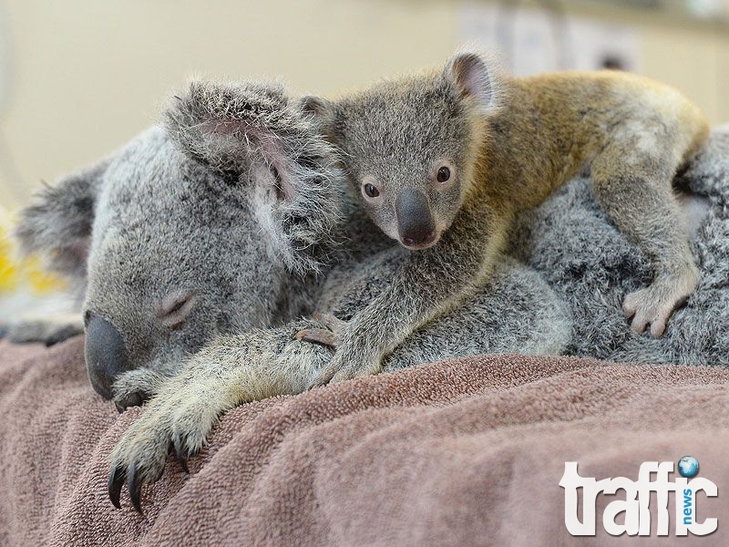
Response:
POLYGON ((607 221, 587 179, 573 181, 519 219, 509 253, 537 270, 569 304, 568 354, 641 363, 729 365, 729 126, 714 129, 676 186, 708 204, 693 237, 701 276, 695 294, 675 312, 670 328, 658 339, 626 328, 621 299, 650 281, 651 265, 607 221))

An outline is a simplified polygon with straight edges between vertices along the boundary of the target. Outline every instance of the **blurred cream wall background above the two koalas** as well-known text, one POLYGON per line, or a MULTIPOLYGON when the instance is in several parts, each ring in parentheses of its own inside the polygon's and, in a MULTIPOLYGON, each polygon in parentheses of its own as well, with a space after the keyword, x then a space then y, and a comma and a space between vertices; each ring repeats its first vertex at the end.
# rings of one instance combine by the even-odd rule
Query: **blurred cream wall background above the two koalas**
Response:
POLYGON ((519 75, 640 72, 729 121, 729 0, 0 0, 0 291, 13 212, 155 123, 188 77, 336 95, 461 44, 519 75))

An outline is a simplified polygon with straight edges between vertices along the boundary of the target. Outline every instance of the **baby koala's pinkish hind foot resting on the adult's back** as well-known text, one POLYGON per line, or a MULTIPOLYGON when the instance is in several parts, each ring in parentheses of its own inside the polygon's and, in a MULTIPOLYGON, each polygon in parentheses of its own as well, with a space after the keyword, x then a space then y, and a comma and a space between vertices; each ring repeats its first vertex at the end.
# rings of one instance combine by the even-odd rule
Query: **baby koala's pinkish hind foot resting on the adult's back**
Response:
POLYGON ((622 311, 632 318, 631 329, 641 334, 651 325, 651 335, 662 336, 673 310, 683 305, 699 283, 699 271, 693 264, 681 275, 664 276, 648 287, 627 294, 622 311))

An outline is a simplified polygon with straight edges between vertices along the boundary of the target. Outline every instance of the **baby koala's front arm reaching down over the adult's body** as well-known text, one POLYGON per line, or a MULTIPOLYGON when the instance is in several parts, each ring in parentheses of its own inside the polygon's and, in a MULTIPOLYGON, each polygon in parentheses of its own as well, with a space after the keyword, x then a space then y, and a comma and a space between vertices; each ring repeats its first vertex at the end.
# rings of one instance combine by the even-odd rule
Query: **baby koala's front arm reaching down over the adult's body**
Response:
MULTIPOLYGON (((411 252, 390 284, 341 327, 334 357, 312 386, 380 372, 383 358, 408 335, 447 313, 483 282, 507 228, 508 215, 496 207, 464 205, 440 242, 411 252)), ((298 337, 326 343, 326 335, 317 330, 304 330, 298 337)))

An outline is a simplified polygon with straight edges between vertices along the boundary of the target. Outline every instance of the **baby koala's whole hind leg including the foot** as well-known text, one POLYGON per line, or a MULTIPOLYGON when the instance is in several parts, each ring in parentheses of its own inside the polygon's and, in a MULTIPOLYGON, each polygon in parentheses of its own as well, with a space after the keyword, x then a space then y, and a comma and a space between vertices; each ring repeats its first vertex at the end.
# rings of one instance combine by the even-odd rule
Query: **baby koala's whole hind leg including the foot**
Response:
POLYGON ((678 154, 668 149, 662 154, 664 143, 655 144, 649 152, 634 143, 612 143, 593 160, 592 181, 602 209, 651 260, 652 284, 626 295, 622 309, 632 317, 634 332, 642 333, 650 324, 657 337, 673 310, 693 293, 699 270, 685 215, 673 193, 678 154))

